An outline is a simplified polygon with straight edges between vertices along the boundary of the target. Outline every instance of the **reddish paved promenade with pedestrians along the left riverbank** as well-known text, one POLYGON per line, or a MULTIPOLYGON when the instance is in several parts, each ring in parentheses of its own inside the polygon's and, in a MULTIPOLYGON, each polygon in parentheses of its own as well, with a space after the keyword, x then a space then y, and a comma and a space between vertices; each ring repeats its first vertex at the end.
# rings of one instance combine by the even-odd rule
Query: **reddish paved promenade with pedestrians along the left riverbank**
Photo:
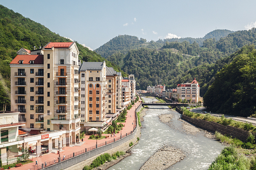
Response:
MULTIPOLYGON (((126 122, 125 123, 122 123, 124 124, 125 126, 123 127, 123 130, 122 130, 122 135, 128 133, 128 132, 131 132, 134 128, 134 121, 135 120, 135 109, 140 105, 140 102, 137 102, 135 103, 132 108, 130 110, 127 110, 127 118, 126 118, 126 122)), ((117 123, 119 124, 119 123, 117 123)), ((103 143, 105 141, 109 141, 113 138, 117 138, 117 137, 120 137, 120 132, 116 134, 116 137, 110 137, 110 134, 102 134, 103 136, 109 136, 108 138, 104 138, 104 139, 101 139, 101 140, 97 140, 97 143, 98 145, 100 143, 103 143)), ((79 143, 76 143, 75 145, 72 145, 71 147, 64 147, 64 151, 60 151, 60 157, 62 158, 63 155, 65 154, 66 158, 67 158, 67 155, 70 155, 70 154, 73 154, 73 152, 78 152, 78 151, 81 151, 81 150, 84 150, 85 148, 90 148, 90 147, 93 147, 93 146, 96 146, 96 140, 92 140, 92 139, 89 139, 89 136, 90 135, 85 135, 84 139, 83 139, 83 142, 82 140, 80 139, 79 143)), ((55 150, 55 149, 53 149, 55 150)), ((44 154, 42 155, 42 157, 35 157, 35 155, 33 156, 33 158, 30 156, 30 160, 33 161, 33 163, 29 163, 29 164, 25 164, 21 167, 14 167, 14 168, 11 168, 13 170, 29 170, 29 169, 34 169, 35 167, 35 160, 38 161, 38 165, 42 165, 44 164, 44 162, 46 161, 47 163, 48 162, 51 162, 53 160, 56 160, 56 163, 58 162, 58 154, 57 154, 57 149, 56 149, 56 153, 48 153, 48 154, 44 154)))

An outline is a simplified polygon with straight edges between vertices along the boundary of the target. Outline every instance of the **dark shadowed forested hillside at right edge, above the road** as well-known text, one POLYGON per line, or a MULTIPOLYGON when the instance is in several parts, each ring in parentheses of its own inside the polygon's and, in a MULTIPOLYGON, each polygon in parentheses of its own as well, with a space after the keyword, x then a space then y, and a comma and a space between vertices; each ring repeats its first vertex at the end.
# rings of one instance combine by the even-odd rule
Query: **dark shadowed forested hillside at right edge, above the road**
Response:
POLYGON ((216 75, 204 95, 209 111, 247 117, 256 113, 256 50, 244 46, 216 75))

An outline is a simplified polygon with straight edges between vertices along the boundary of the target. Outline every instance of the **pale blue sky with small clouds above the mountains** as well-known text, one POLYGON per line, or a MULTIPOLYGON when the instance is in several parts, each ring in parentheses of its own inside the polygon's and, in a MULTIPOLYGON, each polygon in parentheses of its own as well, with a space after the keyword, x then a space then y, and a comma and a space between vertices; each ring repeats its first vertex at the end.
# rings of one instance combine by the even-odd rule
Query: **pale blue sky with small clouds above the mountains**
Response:
POLYGON ((90 50, 124 34, 156 41, 256 27, 255 0, 1 0, 0 4, 90 50))

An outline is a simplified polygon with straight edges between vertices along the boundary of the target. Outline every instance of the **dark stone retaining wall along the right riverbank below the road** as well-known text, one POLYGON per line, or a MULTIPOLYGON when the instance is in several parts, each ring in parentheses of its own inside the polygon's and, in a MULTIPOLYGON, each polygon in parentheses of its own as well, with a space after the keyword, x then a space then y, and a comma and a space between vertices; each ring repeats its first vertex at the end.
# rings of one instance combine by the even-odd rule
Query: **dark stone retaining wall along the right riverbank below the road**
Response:
POLYGON ((216 122, 209 122, 206 120, 202 120, 202 119, 196 119, 196 118, 190 118, 188 116, 182 115, 181 116, 182 119, 186 120, 187 122, 194 124, 195 126, 198 126, 201 129, 207 130, 207 131, 211 131, 211 132, 219 132, 221 134, 224 135, 230 135, 232 137, 235 137, 241 141, 246 141, 249 132, 239 129, 239 128, 235 128, 233 126, 224 126, 222 124, 216 123, 216 122))

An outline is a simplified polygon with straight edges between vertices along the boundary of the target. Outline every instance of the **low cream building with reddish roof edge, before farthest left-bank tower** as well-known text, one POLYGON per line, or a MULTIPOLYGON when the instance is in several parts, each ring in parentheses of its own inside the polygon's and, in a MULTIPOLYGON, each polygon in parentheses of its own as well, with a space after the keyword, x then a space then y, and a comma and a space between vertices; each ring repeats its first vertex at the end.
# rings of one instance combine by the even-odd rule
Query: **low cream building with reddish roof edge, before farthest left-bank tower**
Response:
POLYGON ((122 107, 125 107, 131 102, 131 84, 129 79, 122 80, 122 107))

